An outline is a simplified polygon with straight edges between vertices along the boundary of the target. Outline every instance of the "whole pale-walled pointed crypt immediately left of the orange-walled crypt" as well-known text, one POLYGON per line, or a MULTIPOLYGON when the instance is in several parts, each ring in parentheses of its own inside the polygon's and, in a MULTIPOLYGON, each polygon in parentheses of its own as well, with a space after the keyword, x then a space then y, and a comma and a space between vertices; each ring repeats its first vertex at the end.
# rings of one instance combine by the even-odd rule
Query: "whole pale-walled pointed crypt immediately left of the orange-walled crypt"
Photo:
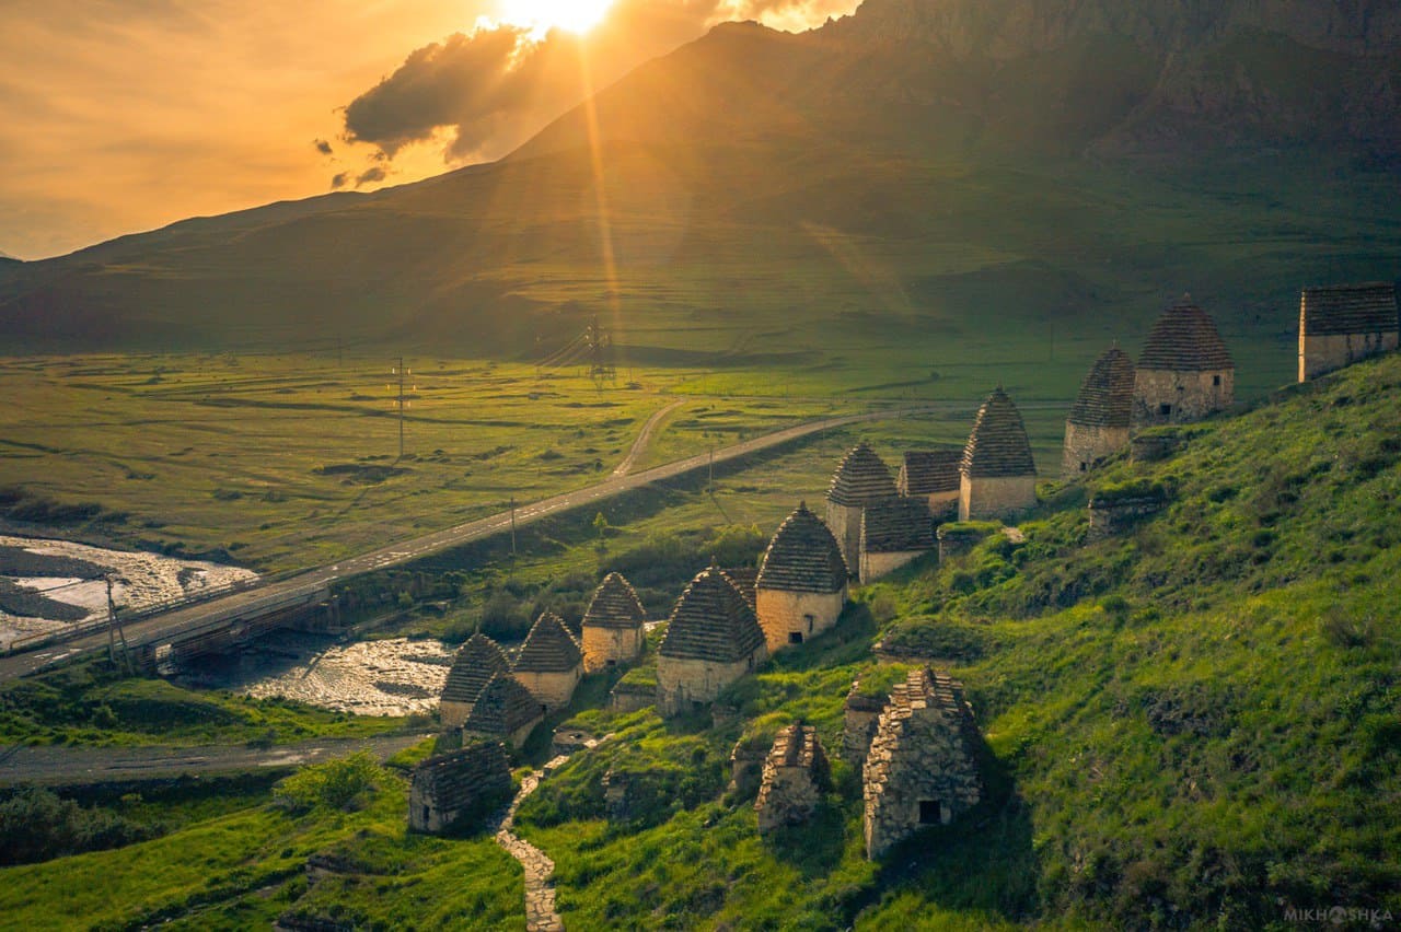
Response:
POLYGON ((754 609, 716 567, 702 570, 677 599, 657 649, 657 711, 679 715, 715 701, 768 656, 754 609))

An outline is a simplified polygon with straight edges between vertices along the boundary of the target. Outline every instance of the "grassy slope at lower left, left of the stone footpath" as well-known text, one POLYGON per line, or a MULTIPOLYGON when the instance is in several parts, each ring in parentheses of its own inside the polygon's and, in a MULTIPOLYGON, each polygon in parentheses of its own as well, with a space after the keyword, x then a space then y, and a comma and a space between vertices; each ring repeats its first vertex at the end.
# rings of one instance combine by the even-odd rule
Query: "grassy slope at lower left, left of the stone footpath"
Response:
POLYGON ((408 835, 402 778, 380 777, 353 813, 290 816, 259 802, 118 851, 0 870, 6 925, 120 929, 266 928, 293 910, 367 928, 502 928, 524 922, 520 868, 489 838, 408 835), (308 890, 310 855, 338 873, 308 890))

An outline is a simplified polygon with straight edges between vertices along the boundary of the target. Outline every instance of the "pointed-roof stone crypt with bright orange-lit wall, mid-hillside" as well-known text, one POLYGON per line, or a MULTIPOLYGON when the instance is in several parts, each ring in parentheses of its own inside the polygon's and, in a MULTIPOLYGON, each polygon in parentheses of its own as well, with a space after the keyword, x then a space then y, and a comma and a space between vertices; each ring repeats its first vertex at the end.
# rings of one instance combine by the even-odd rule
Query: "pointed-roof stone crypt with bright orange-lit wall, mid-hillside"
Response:
POLYGON ((755 581, 769 654, 827 631, 846 605, 846 561, 836 537, 801 502, 779 525, 755 581))

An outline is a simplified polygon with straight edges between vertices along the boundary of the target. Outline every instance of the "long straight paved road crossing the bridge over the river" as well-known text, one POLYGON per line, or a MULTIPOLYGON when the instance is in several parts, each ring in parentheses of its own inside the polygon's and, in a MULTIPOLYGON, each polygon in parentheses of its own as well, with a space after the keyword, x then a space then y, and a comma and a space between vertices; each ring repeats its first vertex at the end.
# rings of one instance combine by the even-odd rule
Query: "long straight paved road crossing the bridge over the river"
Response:
MULTIPOLYGON (((539 521, 546 515, 552 515, 560 511, 567 511, 570 508, 577 508, 580 505, 588 505, 595 501, 602 501, 605 498, 612 498, 614 495, 649 486, 654 481, 675 479, 685 473, 703 469, 708 463, 723 463, 731 459, 738 459, 750 453, 757 453, 773 446, 779 446, 789 441, 797 439, 800 437, 808 437, 817 434, 818 431, 831 430, 835 427, 845 427, 848 424, 857 424, 862 421, 876 421, 876 420, 890 420, 897 417, 904 417, 920 411, 933 411, 951 407, 948 404, 920 404, 915 407, 902 409, 885 409, 877 411, 867 411, 864 414, 846 414, 842 417, 828 417, 815 421, 806 421, 803 424, 796 424, 793 427, 783 428, 780 431, 773 431, 772 434, 764 434, 752 439, 747 439, 723 449, 716 449, 715 453, 699 453, 696 456, 689 456, 686 459, 679 459, 664 466, 654 466, 651 469, 644 469, 639 473, 632 473, 629 476, 609 476, 608 479, 584 488, 579 488, 570 493, 563 493, 559 495, 552 495, 549 498, 537 501, 534 504, 523 505, 516 509, 516 523, 525 525, 532 521, 539 521)), ((663 409, 665 410, 665 409, 663 409)), ((654 416, 656 417, 656 416, 654 416)), ((410 560, 417 560, 432 553, 440 550, 448 550, 451 547, 461 546, 464 543, 471 543, 474 540, 481 540, 482 537, 489 537, 492 535, 499 535, 509 530, 511 526, 511 512, 503 511, 488 518, 481 518, 478 521, 471 521, 464 525, 457 525, 446 530, 439 530, 422 537, 415 537, 412 540, 405 540, 402 543, 389 544, 381 547, 380 550, 373 550, 367 554, 359 557, 350 557, 342 560, 340 563, 332 564, 329 567, 318 567, 315 570, 308 570, 307 572, 297 574, 291 578, 272 582, 268 585, 261 585, 254 589, 244 592, 235 592, 217 599, 210 599, 195 606, 185 609, 177 609, 167 614, 154 616, 150 619, 143 619, 140 621, 130 623, 125 627, 126 638, 129 642, 158 642, 163 638, 171 637, 188 628, 196 628, 200 624, 209 624, 213 619, 220 616, 227 616, 228 613, 238 610, 248 610, 261 602, 273 602, 283 596, 289 596, 294 592, 312 592, 322 589, 324 586, 342 579, 346 577, 357 577, 374 570, 384 570, 387 567, 398 565, 402 563, 409 563, 410 560)), ((94 654, 106 649, 108 635, 105 631, 98 631, 84 637, 74 638, 64 644, 50 645, 39 651, 31 651, 25 654, 17 654, 14 656, 0 658, 0 683, 34 673, 35 670, 52 666, 62 661, 67 661, 83 654, 94 654)))

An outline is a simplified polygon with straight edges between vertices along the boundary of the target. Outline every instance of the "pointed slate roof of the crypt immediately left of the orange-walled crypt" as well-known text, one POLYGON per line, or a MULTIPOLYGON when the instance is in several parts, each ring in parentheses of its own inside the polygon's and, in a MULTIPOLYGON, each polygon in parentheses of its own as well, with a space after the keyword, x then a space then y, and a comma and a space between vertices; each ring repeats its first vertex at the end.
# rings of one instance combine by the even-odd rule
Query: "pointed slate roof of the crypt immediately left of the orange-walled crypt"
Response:
POLYGON ((710 564, 686 586, 657 652, 686 661, 733 663, 764 645, 764 628, 724 571, 710 564))

